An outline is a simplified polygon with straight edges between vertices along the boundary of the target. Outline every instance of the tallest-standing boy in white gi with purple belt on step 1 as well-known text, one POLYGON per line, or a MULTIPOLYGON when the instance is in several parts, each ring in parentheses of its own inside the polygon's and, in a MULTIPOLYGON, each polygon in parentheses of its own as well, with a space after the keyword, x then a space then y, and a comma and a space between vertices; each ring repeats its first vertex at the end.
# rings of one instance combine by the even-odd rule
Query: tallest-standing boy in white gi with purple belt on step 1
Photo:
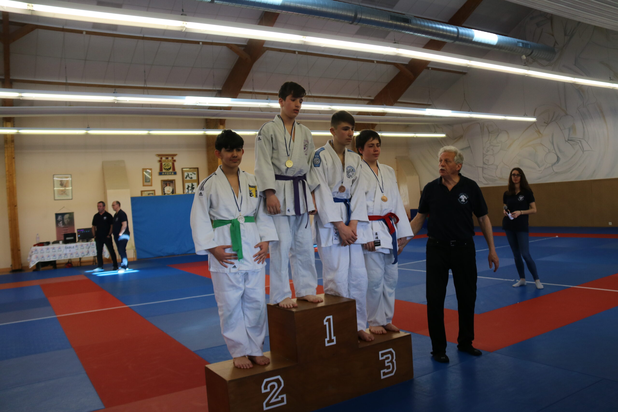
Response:
POLYGON ((305 89, 286 82, 279 89, 281 113, 265 123, 255 138, 255 177, 273 216, 278 242, 270 244, 270 302, 282 308, 298 306, 292 300, 287 265, 292 268, 296 298, 313 303, 318 274, 309 214, 315 214, 310 196, 316 183, 311 180, 311 156, 315 145, 310 130, 295 119, 305 89))

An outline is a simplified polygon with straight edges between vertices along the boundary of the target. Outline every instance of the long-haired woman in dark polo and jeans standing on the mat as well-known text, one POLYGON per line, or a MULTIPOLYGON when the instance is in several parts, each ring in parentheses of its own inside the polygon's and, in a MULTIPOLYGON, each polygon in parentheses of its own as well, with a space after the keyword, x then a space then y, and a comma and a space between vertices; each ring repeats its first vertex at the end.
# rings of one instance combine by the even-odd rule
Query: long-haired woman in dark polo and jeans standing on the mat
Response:
POLYGON ((519 273, 519 282, 513 287, 525 286, 526 276, 523 271, 523 261, 526 261, 528 271, 535 280, 536 288, 543 289, 543 285, 536 273, 536 264, 530 256, 528 246, 528 215, 536 213, 535 196, 528 185, 528 180, 523 174, 523 170, 514 167, 510 171, 509 190, 502 196, 504 203, 504 219, 502 219, 502 229, 509 240, 510 249, 515 258, 515 267, 519 273), (522 260, 523 257, 523 260, 522 260))

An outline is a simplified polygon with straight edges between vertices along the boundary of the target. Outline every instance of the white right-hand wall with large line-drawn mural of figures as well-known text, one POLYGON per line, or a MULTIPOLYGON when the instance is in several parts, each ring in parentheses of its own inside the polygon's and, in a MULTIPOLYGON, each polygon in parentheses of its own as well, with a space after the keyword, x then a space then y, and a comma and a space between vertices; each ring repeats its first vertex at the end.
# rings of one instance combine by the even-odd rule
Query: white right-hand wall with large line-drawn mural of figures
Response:
MULTIPOLYGON (((554 62, 530 61, 531 67, 616 81, 617 32, 533 12, 510 35, 556 46, 554 62)), ((504 53, 485 58, 522 64, 520 57, 504 53)), ((422 185, 438 177, 437 153, 444 145, 464 151, 462 174, 481 186, 506 185, 512 167, 521 167, 532 183, 618 177, 618 91, 470 69, 436 105, 461 107, 464 86, 475 112, 527 114, 537 120, 436 125, 434 130, 447 138, 410 145, 422 185)))

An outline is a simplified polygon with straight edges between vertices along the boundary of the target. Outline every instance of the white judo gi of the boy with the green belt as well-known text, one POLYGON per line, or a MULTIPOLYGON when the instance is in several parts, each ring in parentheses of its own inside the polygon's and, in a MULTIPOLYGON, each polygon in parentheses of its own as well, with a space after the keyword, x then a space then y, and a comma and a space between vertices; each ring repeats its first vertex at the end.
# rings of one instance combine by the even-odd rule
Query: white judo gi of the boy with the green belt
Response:
MULTIPOLYGON (((255 176, 239 169, 240 190, 236 196, 221 167, 202 180, 195 191, 191 209, 191 229, 195 253, 208 254, 214 298, 219 308, 221 332, 232 357, 261 356, 266 335, 266 263, 253 261, 260 242, 277 240, 273 219, 266 213, 255 176), (239 211, 240 209, 240 211, 239 211), (213 229, 213 221, 254 217, 255 222, 240 223, 242 259, 227 267, 208 251, 232 245, 231 225, 213 229)), ((241 219, 242 220, 242 219, 241 219)), ((226 252, 233 253, 232 248, 226 252)))

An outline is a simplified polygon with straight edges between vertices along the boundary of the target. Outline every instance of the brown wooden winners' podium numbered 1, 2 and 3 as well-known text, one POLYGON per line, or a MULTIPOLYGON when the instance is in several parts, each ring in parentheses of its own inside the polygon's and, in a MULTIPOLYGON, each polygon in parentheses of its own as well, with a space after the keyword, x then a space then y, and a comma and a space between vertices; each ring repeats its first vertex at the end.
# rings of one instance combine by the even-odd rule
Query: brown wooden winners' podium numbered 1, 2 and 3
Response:
POLYGON ((268 305, 266 366, 206 365, 210 412, 313 411, 412 379, 412 338, 404 332, 357 337, 356 303, 322 295, 298 308, 268 305))

